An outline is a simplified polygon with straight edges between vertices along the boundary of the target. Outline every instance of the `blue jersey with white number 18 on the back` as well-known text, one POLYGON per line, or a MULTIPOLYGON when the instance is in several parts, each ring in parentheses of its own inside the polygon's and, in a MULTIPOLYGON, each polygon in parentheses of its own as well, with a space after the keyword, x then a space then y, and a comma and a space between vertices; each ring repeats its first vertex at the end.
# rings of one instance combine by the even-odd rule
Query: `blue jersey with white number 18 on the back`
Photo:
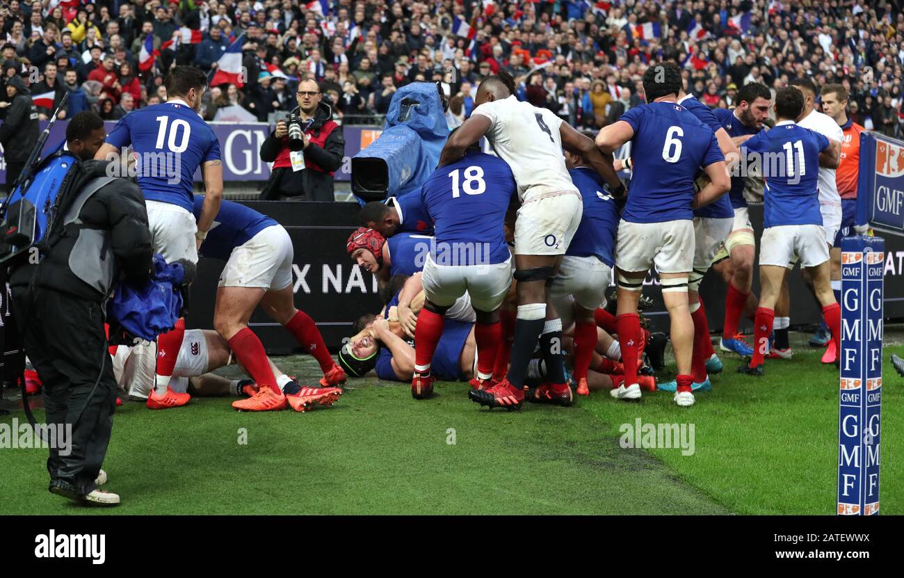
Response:
POLYGON ((505 212, 517 194, 512 169, 497 156, 471 152, 438 168, 420 188, 433 220, 438 265, 508 261, 505 212))

